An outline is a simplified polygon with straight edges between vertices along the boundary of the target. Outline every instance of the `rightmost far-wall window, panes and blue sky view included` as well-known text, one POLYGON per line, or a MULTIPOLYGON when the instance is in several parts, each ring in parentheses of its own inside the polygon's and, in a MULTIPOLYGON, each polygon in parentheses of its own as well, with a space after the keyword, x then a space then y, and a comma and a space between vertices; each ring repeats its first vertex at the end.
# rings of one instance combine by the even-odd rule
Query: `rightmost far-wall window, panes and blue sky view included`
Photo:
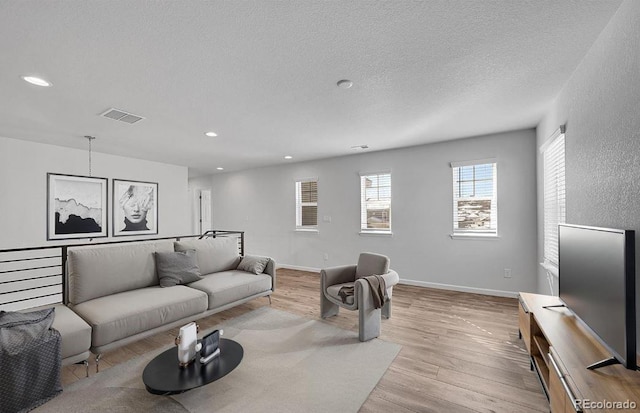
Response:
POLYGON ((497 235, 494 161, 453 162, 453 235, 497 235))

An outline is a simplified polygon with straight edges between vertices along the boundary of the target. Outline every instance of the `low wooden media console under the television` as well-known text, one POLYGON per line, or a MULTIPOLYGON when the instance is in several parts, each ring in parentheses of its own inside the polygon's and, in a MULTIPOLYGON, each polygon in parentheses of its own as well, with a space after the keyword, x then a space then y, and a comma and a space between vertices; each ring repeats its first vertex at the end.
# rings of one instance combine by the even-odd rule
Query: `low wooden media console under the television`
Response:
POLYGON ((554 296, 520 293, 520 335, 552 413, 640 411, 640 371, 620 364, 588 370, 611 357, 554 296))

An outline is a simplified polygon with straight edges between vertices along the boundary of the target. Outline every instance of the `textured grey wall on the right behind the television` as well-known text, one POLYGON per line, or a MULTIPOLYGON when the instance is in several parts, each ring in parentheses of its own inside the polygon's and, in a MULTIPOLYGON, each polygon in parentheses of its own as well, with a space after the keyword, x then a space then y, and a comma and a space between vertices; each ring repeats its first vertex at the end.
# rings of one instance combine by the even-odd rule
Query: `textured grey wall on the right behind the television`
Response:
MULTIPOLYGON (((639 22, 640 2, 625 1, 538 126, 540 146, 559 125, 567 125, 568 223, 640 231, 639 22)), ((541 159, 538 169, 542 262, 541 159)), ((640 242, 636 245, 640 257, 640 242)), ((550 293, 542 270, 538 290, 550 293)), ((553 292, 558 292, 557 282, 553 292)))

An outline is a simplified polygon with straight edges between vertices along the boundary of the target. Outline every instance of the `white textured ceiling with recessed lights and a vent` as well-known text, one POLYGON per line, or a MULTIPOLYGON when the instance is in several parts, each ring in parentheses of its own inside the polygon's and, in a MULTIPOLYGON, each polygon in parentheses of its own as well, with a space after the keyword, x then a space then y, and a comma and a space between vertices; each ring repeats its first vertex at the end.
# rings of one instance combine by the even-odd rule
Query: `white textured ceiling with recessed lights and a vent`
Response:
POLYGON ((619 5, 2 0, 0 136, 197 176, 534 127, 619 5))

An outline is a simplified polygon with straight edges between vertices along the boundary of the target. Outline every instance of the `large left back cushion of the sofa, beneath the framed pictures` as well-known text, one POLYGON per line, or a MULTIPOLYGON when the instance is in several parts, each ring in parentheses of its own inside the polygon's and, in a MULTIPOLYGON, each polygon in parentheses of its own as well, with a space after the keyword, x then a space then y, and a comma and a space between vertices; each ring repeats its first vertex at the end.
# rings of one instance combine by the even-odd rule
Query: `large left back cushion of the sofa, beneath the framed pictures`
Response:
POLYGON ((67 254, 69 302, 158 285, 153 253, 173 251, 170 240, 71 247, 67 254))

